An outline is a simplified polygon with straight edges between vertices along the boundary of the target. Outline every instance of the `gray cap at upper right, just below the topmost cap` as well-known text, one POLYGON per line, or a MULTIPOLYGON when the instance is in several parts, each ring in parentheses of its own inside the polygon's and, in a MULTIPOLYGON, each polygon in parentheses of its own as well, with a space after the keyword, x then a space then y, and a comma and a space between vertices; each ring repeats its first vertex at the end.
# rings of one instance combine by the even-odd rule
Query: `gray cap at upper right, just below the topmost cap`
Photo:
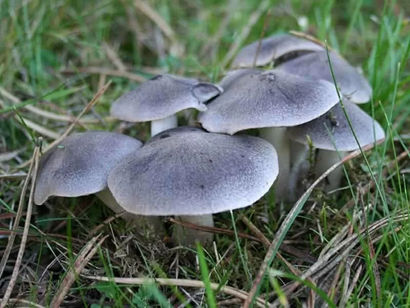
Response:
MULTIPOLYGON (((368 102, 372 97, 372 87, 364 76, 335 52, 329 51, 329 56, 341 93, 353 103, 368 102)), ((299 76, 324 79, 333 83, 325 50, 300 56, 284 62, 277 68, 299 76)))

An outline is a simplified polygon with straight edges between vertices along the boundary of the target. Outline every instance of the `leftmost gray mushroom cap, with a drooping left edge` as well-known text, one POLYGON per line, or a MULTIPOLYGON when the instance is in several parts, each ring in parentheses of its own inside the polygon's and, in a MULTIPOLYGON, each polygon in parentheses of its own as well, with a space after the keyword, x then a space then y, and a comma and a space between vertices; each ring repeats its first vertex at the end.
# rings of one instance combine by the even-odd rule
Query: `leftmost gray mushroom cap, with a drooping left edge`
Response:
POLYGON ((142 146, 139 140, 109 131, 74 133, 39 161, 34 202, 50 196, 78 197, 107 188, 108 172, 142 146))

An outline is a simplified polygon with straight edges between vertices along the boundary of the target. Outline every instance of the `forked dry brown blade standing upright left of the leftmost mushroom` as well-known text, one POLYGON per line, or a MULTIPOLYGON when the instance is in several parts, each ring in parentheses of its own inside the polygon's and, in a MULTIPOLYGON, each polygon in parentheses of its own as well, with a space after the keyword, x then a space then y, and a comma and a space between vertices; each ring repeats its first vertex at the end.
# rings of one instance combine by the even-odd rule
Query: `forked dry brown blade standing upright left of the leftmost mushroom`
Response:
MULTIPOLYGON (((11 274, 11 278, 10 278, 9 284, 6 288, 6 292, 4 294, 3 300, 0 303, 0 308, 4 308, 7 305, 8 299, 10 298, 11 292, 13 291, 14 284, 17 281, 18 272, 19 272, 19 269, 20 269, 20 264, 22 264, 23 255, 24 255, 24 251, 25 251, 25 248, 26 248, 27 236, 28 236, 29 228, 30 228, 31 213, 32 213, 32 209, 33 209, 33 195, 34 195, 35 181, 36 181, 36 178, 37 178, 38 158, 39 158, 39 155, 40 155, 40 144, 41 144, 41 142, 42 142, 42 139, 39 138, 38 141, 37 141, 37 144, 34 148, 34 153, 33 153, 33 162, 34 162, 33 180, 32 180, 32 184, 31 184, 29 203, 28 203, 28 206, 27 206, 27 214, 26 214, 26 221, 24 223, 24 231, 23 231, 23 235, 22 235, 22 240, 20 242, 20 247, 18 249, 17 258, 16 258, 16 261, 14 263, 13 273, 11 274)), ((24 187, 25 189, 23 189, 23 191, 22 191, 22 196, 20 197, 20 201, 24 200, 24 195, 26 193, 27 185, 28 185, 28 182, 30 180, 31 170, 33 170, 33 163, 30 166, 30 171, 27 175, 27 179, 26 179, 26 182, 25 182, 25 187, 24 187)), ((16 215, 16 219, 14 221, 14 226, 13 226, 14 230, 17 229, 19 220, 22 216, 23 204, 24 204, 24 202, 20 202, 19 205, 18 205, 17 215, 16 215)), ((15 233, 13 232, 12 235, 14 235, 14 237, 11 238, 11 236, 10 236, 9 243, 7 244, 7 248, 10 246, 10 248, 7 252, 7 255, 4 254, 3 258, 2 258, 2 262, 1 262, 1 265, 0 265, 0 277, 3 275, 3 271, 4 271, 4 268, 5 268, 7 259, 9 257, 9 254, 10 254, 10 250, 11 250, 11 247, 12 247, 13 242, 14 242, 15 233)))

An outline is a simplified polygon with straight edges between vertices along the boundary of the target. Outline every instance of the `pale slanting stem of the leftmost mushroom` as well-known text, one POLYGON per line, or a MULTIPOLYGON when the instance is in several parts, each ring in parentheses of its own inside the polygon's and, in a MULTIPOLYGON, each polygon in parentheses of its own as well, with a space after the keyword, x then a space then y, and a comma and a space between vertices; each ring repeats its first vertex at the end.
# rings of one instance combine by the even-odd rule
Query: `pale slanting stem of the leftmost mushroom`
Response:
MULTIPOLYGON (((97 196, 101 201, 103 201, 109 208, 111 208, 115 214, 124 211, 124 208, 118 204, 114 196, 111 194, 110 189, 106 188, 104 190, 96 192, 97 196)), ((137 232, 142 234, 147 234, 147 229, 151 231, 152 234, 163 238, 165 236, 165 227, 162 220, 157 216, 142 216, 135 215, 132 213, 124 213, 121 216, 128 223, 135 225, 137 232)))

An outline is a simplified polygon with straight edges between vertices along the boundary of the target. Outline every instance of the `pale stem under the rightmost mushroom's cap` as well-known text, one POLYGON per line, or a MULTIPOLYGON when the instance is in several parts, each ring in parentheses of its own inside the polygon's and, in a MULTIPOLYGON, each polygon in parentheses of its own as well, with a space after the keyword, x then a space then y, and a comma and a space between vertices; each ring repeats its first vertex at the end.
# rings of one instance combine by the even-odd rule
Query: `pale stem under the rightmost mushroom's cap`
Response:
MULTIPOLYGON (((348 152, 346 151, 330 151, 330 150, 318 150, 316 158, 316 178, 320 177, 327 169, 340 161, 345 157, 348 152)), ((329 176, 327 176, 327 183, 324 187, 325 191, 331 191, 340 187, 340 181, 343 176, 343 166, 336 168, 329 176)))

